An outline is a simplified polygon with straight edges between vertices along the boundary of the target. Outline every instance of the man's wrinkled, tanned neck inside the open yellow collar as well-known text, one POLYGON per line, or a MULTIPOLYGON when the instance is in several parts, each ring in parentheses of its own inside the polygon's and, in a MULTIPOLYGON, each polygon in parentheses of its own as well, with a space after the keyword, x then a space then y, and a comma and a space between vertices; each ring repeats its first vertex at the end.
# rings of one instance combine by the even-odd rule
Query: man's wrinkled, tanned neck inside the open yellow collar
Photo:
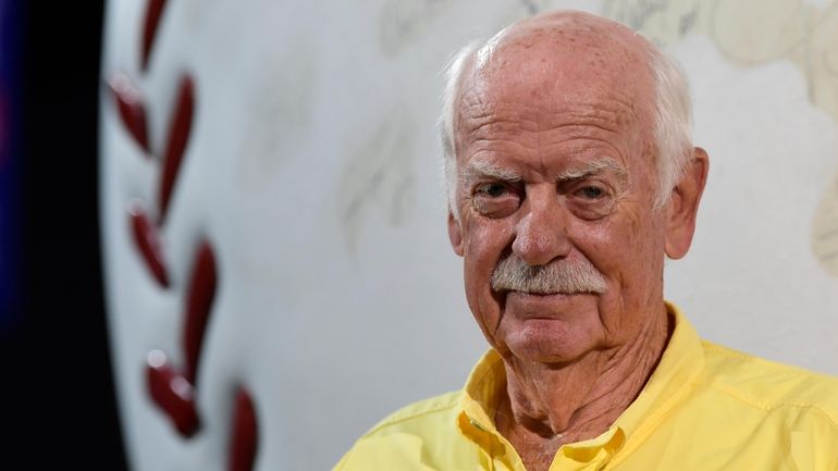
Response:
POLYGON ((631 405, 670 335, 668 315, 655 318, 630 344, 560 368, 504 358, 507 391, 495 423, 528 470, 546 470, 562 445, 604 433, 631 405))

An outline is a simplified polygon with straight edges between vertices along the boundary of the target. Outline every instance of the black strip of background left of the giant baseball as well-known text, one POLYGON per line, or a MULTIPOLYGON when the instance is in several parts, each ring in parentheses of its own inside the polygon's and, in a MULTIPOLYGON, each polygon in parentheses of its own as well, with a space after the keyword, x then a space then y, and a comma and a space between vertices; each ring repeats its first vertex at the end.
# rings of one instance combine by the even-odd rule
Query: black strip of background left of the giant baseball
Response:
POLYGON ((24 309, 0 342, 0 468, 123 470, 98 224, 103 2, 20 4, 24 309))

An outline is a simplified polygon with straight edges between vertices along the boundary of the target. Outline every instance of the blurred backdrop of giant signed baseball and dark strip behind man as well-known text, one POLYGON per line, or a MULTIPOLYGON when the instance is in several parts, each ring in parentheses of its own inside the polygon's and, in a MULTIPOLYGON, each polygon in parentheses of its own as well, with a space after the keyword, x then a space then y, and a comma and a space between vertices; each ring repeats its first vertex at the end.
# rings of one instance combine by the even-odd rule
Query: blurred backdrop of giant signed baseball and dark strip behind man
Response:
POLYGON ((460 387, 441 71, 556 8, 687 71, 711 175, 667 297, 838 374, 836 1, 0 0, 0 467, 326 470, 460 387))

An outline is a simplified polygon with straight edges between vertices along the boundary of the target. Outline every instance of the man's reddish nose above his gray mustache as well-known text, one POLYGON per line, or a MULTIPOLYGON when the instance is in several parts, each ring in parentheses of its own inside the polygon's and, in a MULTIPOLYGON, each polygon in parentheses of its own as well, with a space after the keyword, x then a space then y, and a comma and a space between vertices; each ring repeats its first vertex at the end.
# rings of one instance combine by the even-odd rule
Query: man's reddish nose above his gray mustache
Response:
POLYGON ((571 248, 567 237, 567 219, 570 215, 555 188, 545 189, 527 195, 529 211, 518 222, 513 241, 513 251, 533 267, 565 258, 571 248))

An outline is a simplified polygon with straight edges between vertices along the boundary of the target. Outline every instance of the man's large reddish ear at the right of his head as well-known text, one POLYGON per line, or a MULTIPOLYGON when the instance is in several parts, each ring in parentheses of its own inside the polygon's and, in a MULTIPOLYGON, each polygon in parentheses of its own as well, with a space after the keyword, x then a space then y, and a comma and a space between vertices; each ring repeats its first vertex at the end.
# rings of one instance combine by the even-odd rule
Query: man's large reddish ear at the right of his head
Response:
POLYGON ((679 259, 687 255, 692 244, 692 235, 695 233, 695 216, 699 212, 699 202, 707 182, 710 158, 707 152, 697 147, 692 151, 692 159, 687 164, 683 176, 678 185, 673 188, 667 203, 666 221, 666 255, 670 259, 679 259))

